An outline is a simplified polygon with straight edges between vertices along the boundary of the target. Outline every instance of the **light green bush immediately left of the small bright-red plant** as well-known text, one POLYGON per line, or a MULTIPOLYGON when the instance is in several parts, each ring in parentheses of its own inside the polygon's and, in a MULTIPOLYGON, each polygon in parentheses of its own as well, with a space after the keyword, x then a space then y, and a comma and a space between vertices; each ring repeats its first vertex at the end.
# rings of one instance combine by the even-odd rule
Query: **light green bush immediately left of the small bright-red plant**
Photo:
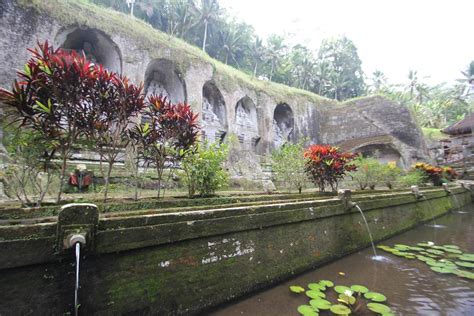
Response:
POLYGON ((288 183, 301 193, 305 182, 308 180, 303 156, 303 143, 284 144, 272 153, 272 171, 275 178, 283 183, 288 183))

